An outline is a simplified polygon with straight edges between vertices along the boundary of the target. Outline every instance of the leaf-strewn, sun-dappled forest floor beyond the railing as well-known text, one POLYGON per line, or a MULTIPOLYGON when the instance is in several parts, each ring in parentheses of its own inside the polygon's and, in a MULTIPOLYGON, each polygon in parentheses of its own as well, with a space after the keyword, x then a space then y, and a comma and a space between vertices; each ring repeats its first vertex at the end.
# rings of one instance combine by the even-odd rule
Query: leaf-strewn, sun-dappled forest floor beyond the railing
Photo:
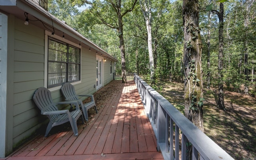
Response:
MULTIPOLYGON (((184 114, 184 84, 161 82, 156 89, 184 114)), ((224 89, 226 110, 216 106, 218 88, 204 89, 204 133, 236 160, 256 160, 256 98, 224 89)))

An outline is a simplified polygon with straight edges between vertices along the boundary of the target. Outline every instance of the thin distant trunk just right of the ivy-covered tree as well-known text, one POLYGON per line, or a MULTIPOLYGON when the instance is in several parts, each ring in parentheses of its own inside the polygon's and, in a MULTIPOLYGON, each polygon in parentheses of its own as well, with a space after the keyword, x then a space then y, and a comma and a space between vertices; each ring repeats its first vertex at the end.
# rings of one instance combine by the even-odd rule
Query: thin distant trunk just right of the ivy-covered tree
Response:
POLYGON ((210 72, 210 37, 211 37, 211 12, 209 12, 209 15, 208 15, 208 21, 209 21, 209 24, 208 24, 208 37, 207 37, 207 86, 206 88, 207 89, 210 89, 210 76, 211 76, 211 72, 210 72))

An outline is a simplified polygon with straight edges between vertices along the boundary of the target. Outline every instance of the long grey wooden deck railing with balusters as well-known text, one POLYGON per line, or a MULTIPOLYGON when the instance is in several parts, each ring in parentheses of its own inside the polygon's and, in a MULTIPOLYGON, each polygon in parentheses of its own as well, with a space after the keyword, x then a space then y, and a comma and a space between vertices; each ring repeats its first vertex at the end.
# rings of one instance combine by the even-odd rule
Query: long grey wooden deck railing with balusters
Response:
MULTIPOLYGON (((165 160, 179 159, 180 143, 175 143, 175 148, 178 148, 176 152, 174 151, 174 145, 170 144, 174 144, 174 132, 175 135, 179 135, 180 131, 182 134, 182 160, 186 159, 187 139, 192 144, 192 160, 197 160, 198 158, 200 160, 234 160, 142 78, 134 74, 134 81, 156 135, 158 151, 162 152, 165 160), (198 157, 198 153, 200 157, 198 157)), ((175 136, 175 142, 179 141, 179 136, 175 136)))

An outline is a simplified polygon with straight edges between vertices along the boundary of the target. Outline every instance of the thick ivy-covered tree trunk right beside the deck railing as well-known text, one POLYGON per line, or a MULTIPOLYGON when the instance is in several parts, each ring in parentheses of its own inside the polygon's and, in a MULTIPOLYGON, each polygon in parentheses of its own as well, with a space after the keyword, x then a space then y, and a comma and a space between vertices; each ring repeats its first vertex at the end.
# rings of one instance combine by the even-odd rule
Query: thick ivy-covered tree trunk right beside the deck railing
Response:
POLYGON ((183 0, 185 116, 201 131, 203 125, 202 42, 198 0, 183 0))

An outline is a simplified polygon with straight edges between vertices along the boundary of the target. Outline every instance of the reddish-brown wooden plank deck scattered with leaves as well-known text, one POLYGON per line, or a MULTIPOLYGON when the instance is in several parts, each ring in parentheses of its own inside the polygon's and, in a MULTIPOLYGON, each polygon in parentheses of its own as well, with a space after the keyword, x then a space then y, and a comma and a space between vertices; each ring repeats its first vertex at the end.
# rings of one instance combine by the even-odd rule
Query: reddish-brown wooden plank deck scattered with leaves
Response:
POLYGON ((111 94, 96 102, 98 114, 89 115, 91 119, 84 125, 78 122, 78 137, 74 137, 72 129, 50 131, 47 138, 42 133, 5 159, 163 159, 156 150, 156 137, 144 113, 134 81, 123 84, 120 80, 114 80, 104 88, 111 94))

